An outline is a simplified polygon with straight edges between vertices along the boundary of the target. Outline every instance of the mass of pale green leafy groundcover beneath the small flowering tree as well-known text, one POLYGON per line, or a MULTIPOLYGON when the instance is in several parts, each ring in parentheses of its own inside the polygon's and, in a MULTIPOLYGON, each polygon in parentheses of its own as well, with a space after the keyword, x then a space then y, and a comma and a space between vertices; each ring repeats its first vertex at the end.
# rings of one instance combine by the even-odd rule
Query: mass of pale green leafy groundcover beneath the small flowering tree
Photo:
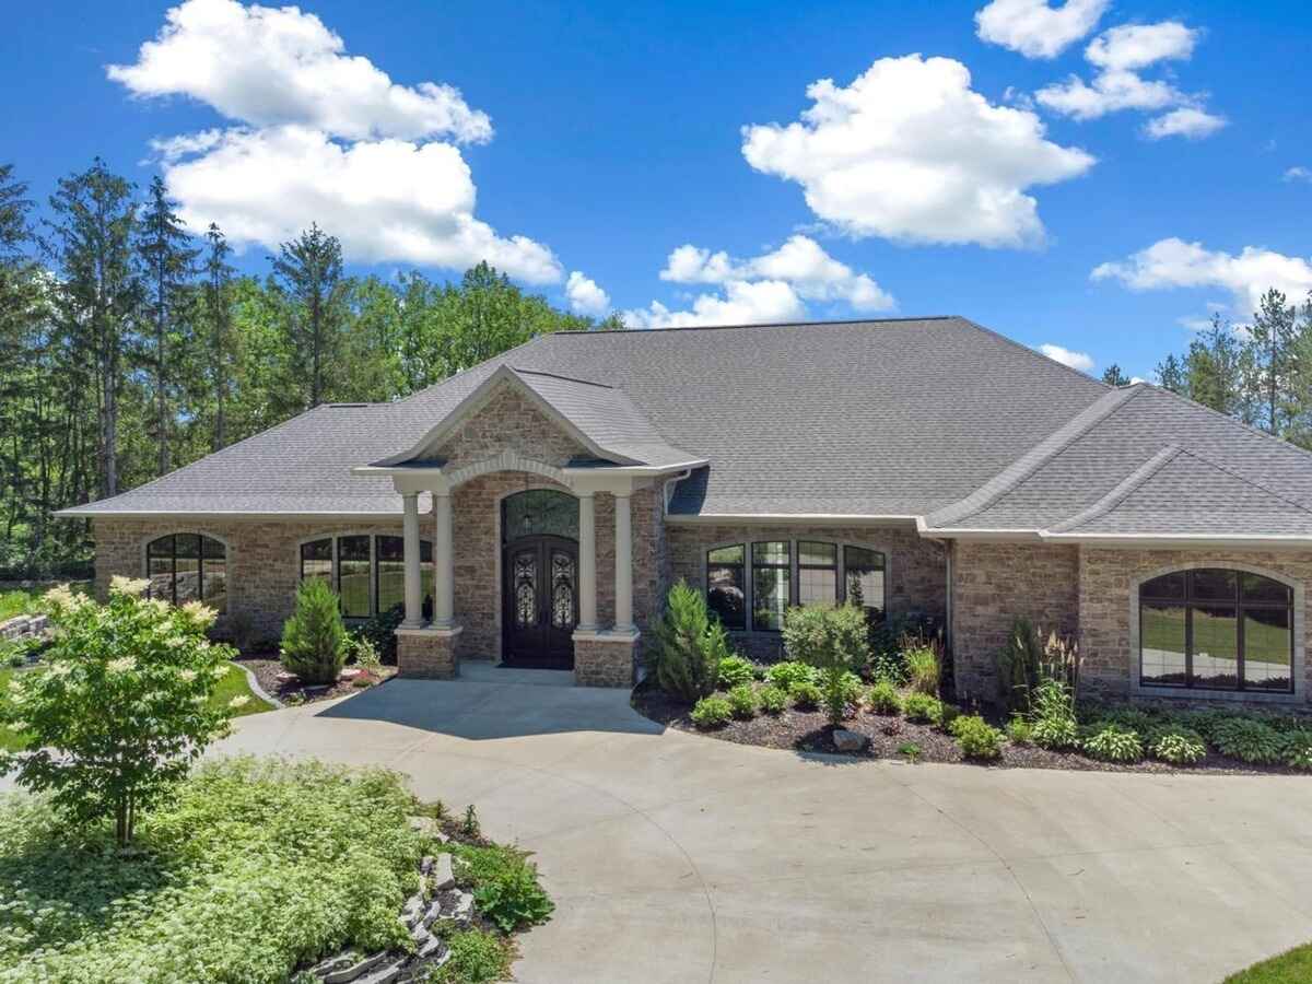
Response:
POLYGON ((0 980, 285 981, 345 947, 404 946, 429 838, 401 777, 220 760, 142 817, 136 849, 0 798, 0 980))

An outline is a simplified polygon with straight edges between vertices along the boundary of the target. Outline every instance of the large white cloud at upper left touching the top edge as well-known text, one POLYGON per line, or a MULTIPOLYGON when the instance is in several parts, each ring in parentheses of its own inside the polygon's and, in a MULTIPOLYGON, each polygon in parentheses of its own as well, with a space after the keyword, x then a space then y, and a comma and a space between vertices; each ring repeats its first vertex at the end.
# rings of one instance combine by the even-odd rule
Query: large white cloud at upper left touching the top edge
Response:
POLYGON ((155 41, 109 77, 136 96, 190 96, 255 126, 298 123, 352 140, 492 138, 485 113, 450 85, 398 85, 312 13, 186 0, 165 13, 155 41))

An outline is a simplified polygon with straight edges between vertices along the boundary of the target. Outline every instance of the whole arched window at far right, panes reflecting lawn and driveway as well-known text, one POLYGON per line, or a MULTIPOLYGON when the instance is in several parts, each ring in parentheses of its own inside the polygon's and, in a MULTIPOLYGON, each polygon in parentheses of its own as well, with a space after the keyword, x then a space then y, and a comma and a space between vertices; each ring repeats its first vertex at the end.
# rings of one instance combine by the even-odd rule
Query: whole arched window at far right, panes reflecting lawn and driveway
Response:
POLYGON ((1294 690, 1294 592, 1221 568, 1177 571, 1139 588, 1140 684, 1294 690))

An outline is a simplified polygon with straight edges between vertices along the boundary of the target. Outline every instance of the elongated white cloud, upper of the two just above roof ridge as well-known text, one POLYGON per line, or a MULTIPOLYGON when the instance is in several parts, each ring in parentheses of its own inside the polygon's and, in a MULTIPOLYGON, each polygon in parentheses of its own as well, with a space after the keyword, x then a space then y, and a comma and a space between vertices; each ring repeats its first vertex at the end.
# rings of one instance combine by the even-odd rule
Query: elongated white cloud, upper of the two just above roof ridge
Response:
POLYGON ((802 235, 750 260, 732 260, 723 251, 711 253, 691 244, 681 245, 669 255, 660 278, 674 283, 782 281, 806 300, 845 300, 857 311, 888 311, 896 304, 870 276, 853 272, 813 239, 802 235))

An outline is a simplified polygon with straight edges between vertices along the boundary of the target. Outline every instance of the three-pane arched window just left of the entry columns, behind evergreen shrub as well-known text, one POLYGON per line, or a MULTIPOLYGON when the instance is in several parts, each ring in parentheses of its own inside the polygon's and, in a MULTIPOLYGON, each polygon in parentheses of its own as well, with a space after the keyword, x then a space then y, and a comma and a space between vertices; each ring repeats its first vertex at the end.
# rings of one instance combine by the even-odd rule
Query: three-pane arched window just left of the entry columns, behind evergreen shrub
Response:
MULTIPOLYGON (((345 618, 370 618, 405 604, 405 541, 395 535, 324 537, 300 544, 300 580, 323 577, 345 618)), ((420 590, 432 610, 433 543, 420 541, 420 590)))

